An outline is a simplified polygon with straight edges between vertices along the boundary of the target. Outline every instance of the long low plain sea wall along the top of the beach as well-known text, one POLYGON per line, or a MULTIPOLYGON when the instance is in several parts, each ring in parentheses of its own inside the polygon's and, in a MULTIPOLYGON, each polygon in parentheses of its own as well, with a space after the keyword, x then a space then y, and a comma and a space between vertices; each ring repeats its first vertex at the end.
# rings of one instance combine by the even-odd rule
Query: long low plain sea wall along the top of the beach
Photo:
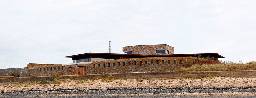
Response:
MULTIPOLYGON (((229 77, 256 77, 256 71, 209 71, 209 72, 136 72, 136 73, 115 73, 112 74, 119 78, 125 77, 133 79, 137 77, 145 78, 168 78, 169 76, 180 77, 188 74, 208 75, 212 76, 229 76, 229 77)), ((69 75, 69 76, 42 76, 42 77, 21 77, 21 78, 0 78, 0 82, 27 82, 27 81, 53 81, 54 78, 93 78, 93 77, 107 77, 109 74, 92 74, 92 75, 69 75)))

